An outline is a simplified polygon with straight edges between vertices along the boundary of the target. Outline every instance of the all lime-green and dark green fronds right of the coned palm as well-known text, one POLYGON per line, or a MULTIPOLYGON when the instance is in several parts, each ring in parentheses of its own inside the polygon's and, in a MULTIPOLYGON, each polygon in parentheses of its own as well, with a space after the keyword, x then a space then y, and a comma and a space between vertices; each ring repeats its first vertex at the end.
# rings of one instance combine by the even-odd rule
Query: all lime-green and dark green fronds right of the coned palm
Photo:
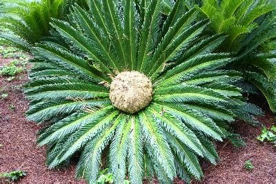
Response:
POLYGON ((228 69, 242 72, 244 78, 237 85, 246 94, 257 88, 276 112, 276 1, 204 0, 200 9, 214 32, 228 35, 219 50, 233 52, 228 69))

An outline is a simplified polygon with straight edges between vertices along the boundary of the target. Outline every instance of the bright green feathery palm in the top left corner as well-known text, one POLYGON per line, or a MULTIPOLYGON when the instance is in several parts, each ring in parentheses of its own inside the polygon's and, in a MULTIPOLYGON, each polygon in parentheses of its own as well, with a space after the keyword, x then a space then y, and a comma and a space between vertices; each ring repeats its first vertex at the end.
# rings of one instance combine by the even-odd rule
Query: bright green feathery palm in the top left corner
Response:
MULTIPOLYGON (((0 17, 0 39, 30 52, 32 45, 50 36, 50 19, 66 19, 72 3, 84 0, 41 0, 6 3, 0 17)), ((87 6, 87 5, 86 5, 87 6)))

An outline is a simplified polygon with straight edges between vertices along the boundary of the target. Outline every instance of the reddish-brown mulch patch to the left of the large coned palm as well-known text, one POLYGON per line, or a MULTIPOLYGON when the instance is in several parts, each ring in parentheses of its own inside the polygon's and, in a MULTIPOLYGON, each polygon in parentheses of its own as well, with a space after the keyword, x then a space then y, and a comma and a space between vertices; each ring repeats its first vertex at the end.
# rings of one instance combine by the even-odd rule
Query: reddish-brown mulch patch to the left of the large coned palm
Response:
MULTIPOLYGON (((3 65, 1 59, 0 65, 3 65)), ((46 149, 36 145, 40 127, 25 117, 28 101, 21 85, 27 80, 26 74, 19 74, 12 82, 0 76, 0 88, 6 87, 8 92, 8 98, 0 98, 0 173, 26 171, 28 175, 20 183, 84 183, 75 179, 74 166, 61 170, 46 167, 46 149)))

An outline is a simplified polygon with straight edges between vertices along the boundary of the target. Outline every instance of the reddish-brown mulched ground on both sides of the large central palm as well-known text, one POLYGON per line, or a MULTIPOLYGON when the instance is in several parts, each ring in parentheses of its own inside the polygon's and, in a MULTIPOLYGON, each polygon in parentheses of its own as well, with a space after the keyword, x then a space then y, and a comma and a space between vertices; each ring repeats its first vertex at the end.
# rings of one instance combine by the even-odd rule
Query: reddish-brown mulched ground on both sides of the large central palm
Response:
MULTIPOLYGON (((0 58, 0 65, 6 62, 8 60, 0 58)), ((28 101, 21 85, 27 80, 26 74, 19 74, 12 82, 0 76, 0 89, 6 87, 8 92, 8 98, 0 99, 0 144, 3 145, 0 147, 0 173, 12 170, 28 172, 20 183, 84 183, 75 179, 74 165, 61 170, 48 170, 46 167, 46 150, 35 143, 39 126, 27 121, 24 115, 28 101)), ((259 120, 270 127, 275 116, 267 110, 266 116, 259 120)), ((221 162, 215 166, 203 163, 205 176, 202 183, 276 183, 275 147, 256 140, 261 127, 250 127, 241 121, 234 126, 247 146, 235 148, 228 142, 218 143, 221 162), (249 159, 255 166, 252 172, 243 168, 244 162, 249 159)))

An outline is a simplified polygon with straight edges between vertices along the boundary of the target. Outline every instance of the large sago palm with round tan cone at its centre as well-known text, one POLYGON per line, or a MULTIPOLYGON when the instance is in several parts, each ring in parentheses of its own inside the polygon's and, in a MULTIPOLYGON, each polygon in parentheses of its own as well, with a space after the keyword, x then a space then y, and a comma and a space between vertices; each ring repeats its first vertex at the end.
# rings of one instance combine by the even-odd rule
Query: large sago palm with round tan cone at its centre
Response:
POLYGON ((212 142, 235 136, 230 122, 260 113, 233 85, 241 74, 221 70, 228 54, 211 54, 225 37, 204 34, 208 21, 184 13, 184 1, 168 16, 160 0, 90 3, 52 22, 65 45, 34 48, 27 114, 47 122, 47 164, 80 154, 77 176, 90 183, 102 167, 117 183, 201 178, 198 158, 216 163, 212 142))

